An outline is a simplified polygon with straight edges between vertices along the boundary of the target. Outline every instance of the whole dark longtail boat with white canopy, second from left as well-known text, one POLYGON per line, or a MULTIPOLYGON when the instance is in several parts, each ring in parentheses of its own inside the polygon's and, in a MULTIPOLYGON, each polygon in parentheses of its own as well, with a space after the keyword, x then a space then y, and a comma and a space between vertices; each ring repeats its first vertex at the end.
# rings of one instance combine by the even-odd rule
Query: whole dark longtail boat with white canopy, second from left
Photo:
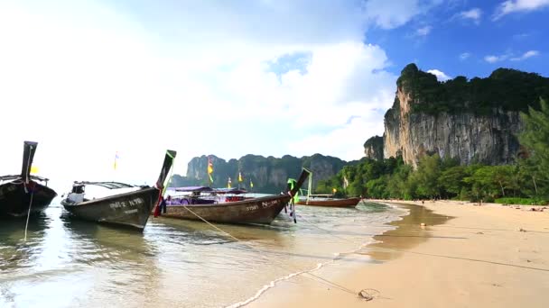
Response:
POLYGON ((118 182, 74 182, 72 191, 61 200, 65 209, 75 217, 92 222, 105 222, 144 230, 149 214, 158 203, 163 186, 173 165, 176 152, 167 150, 160 176, 154 187, 132 186, 118 182), (86 186, 129 190, 116 195, 87 199, 86 186))

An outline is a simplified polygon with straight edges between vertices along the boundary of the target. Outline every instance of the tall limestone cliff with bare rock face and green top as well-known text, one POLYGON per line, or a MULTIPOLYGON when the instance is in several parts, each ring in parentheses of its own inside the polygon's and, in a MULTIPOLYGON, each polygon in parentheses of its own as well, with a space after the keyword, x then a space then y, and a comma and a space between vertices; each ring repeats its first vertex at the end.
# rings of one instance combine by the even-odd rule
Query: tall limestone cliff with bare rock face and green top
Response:
POLYGON ((397 81, 395 103, 385 116, 384 157, 402 154, 416 165, 438 153, 462 164, 505 164, 516 158, 519 112, 549 94, 549 78, 499 68, 488 78, 441 83, 408 65, 397 81))

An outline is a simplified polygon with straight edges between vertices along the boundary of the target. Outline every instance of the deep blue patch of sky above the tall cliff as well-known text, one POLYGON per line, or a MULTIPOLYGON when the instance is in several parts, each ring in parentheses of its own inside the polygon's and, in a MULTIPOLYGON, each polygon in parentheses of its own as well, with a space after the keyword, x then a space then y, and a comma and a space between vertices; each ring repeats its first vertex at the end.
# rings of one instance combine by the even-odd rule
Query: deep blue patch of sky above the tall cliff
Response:
POLYGON ((383 46, 393 64, 387 70, 395 74, 415 62, 450 77, 486 77, 500 67, 549 76, 549 1, 509 2, 523 6, 500 16, 505 3, 454 1, 436 5, 405 26, 369 29, 365 41, 383 46), (517 59, 532 50, 535 53, 530 54, 535 56, 517 59), (489 62, 489 56, 498 60, 489 62))

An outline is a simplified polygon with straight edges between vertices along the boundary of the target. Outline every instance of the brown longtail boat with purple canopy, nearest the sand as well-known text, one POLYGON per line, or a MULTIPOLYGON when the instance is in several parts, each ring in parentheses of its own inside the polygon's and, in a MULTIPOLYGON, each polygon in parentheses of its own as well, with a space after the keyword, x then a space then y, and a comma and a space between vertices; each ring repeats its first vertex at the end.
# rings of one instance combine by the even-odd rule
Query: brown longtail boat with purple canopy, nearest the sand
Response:
MULTIPOLYGON (((187 219, 194 221, 222 222, 222 223, 260 223, 270 224, 284 209, 284 206, 297 193, 303 182, 309 176, 307 170, 303 170, 293 189, 281 195, 267 195, 254 198, 240 198, 237 201, 220 202, 215 198, 200 198, 198 193, 213 191, 207 187, 193 187, 192 195, 187 202, 168 204, 164 217, 187 219)), ((181 190, 182 191, 182 190, 181 190)), ((234 192, 233 192, 234 193, 234 192)), ((230 194, 227 192, 226 194, 230 194)), ((237 195, 237 194, 235 194, 237 195)), ((235 199, 229 199, 235 200, 235 199)))

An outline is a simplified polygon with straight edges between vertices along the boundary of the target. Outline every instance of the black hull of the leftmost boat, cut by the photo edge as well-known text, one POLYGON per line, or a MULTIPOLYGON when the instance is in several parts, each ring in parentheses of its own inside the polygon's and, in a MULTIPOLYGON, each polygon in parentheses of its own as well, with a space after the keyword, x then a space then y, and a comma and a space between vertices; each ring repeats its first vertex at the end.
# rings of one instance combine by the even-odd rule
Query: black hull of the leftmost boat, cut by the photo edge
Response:
POLYGON ((7 182, 0 185, 0 216, 24 217, 29 213, 29 205, 31 214, 41 213, 51 204, 51 200, 56 195, 57 193, 50 187, 34 181, 29 181, 26 192, 22 180, 7 182))

